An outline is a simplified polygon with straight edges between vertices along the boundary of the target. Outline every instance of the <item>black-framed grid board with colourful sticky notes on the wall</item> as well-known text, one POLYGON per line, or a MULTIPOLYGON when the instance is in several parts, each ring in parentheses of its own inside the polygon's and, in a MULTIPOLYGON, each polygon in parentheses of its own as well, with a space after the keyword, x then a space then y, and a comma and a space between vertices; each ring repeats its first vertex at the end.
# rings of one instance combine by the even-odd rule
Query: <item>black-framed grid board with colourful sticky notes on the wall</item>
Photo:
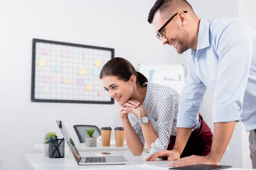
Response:
POLYGON ((113 104, 99 79, 113 48, 32 40, 32 102, 113 104))

